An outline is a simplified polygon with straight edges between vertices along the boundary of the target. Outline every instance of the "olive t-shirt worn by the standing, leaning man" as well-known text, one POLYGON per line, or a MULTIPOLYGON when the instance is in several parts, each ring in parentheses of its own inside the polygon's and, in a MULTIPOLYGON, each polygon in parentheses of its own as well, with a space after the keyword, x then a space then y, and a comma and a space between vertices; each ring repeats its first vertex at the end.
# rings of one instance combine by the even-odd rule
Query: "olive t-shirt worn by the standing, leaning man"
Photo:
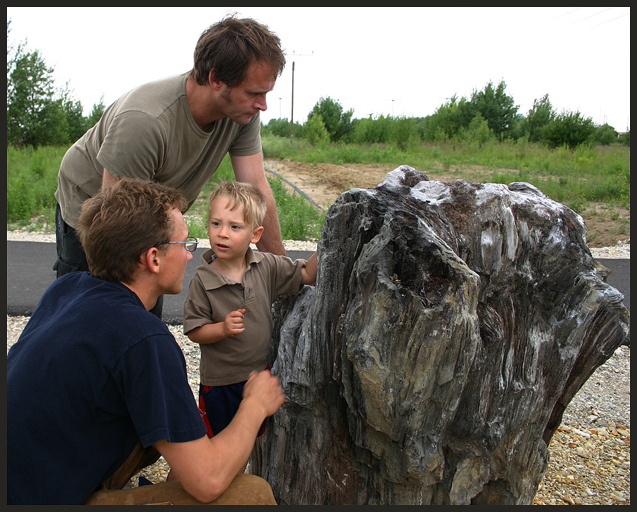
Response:
POLYGON ((187 78, 184 73, 129 91, 69 148, 55 191, 69 226, 77 228, 82 203, 100 190, 103 169, 177 188, 190 208, 227 153, 261 151, 258 113, 247 125, 224 118, 201 130, 188 107, 187 78))

